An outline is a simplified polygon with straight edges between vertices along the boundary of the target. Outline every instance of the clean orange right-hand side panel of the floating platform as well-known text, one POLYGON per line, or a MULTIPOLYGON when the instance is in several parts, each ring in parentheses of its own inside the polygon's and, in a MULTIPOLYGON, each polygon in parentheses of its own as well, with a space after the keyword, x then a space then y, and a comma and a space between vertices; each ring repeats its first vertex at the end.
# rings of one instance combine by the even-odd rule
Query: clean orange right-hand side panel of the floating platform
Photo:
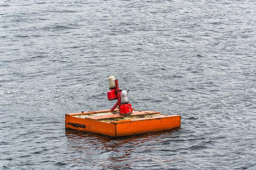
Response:
POLYGON ((170 115, 158 118, 144 118, 129 122, 116 122, 116 137, 136 135, 148 131, 172 129, 180 126, 180 115, 170 115))

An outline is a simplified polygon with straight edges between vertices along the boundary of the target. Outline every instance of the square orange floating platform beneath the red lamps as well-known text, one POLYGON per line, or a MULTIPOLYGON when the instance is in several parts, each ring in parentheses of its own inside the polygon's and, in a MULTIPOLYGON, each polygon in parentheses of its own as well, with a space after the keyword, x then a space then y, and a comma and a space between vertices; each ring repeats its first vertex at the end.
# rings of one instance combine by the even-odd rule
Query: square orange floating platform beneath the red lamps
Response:
POLYGON ((121 116, 115 114, 115 111, 118 111, 118 109, 114 110, 114 114, 111 113, 110 110, 66 114, 66 129, 94 132, 120 138, 143 132, 180 127, 180 115, 163 115, 154 111, 137 111, 128 116, 121 116), (101 115, 91 116, 95 114, 101 115), (150 117, 154 115, 157 116, 150 117), (118 121, 116 121, 116 119, 118 119, 118 121))

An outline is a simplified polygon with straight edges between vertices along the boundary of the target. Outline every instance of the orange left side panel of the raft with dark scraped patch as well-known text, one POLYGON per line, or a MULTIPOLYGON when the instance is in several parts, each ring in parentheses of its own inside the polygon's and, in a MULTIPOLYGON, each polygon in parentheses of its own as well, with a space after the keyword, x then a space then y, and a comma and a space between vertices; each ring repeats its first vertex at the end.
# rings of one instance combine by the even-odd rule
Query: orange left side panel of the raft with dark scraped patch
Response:
POLYGON ((108 136, 116 136, 116 125, 108 122, 99 122, 92 119, 65 116, 66 128, 87 132, 100 133, 108 136))

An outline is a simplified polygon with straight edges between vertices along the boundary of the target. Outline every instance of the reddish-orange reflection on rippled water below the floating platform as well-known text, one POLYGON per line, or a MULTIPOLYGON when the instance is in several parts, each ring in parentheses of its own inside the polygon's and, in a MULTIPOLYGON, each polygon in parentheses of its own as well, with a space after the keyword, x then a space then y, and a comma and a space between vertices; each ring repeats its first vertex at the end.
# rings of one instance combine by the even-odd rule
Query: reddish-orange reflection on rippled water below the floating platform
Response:
POLYGON ((174 137, 173 132, 179 129, 147 132, 122 139, 114 139, 98 133, 66 130, 67 150, 81 153, 79 159, 70 158, 68 161, 83 162, 84 164, 89 161, 91 165, 95 164, 109 169, 133 167, 141 161, 165 167, 164 164, 182 160, 182 157, 159 158, 158 154, 154 152, 170 154, 170 152, 179 149, 177 144, 170 145, 167 140, 174 137), (163 148, 162 145, 166 147, 163 148), (95 157, 100 158, 100 160, 93 159, 95 157))

